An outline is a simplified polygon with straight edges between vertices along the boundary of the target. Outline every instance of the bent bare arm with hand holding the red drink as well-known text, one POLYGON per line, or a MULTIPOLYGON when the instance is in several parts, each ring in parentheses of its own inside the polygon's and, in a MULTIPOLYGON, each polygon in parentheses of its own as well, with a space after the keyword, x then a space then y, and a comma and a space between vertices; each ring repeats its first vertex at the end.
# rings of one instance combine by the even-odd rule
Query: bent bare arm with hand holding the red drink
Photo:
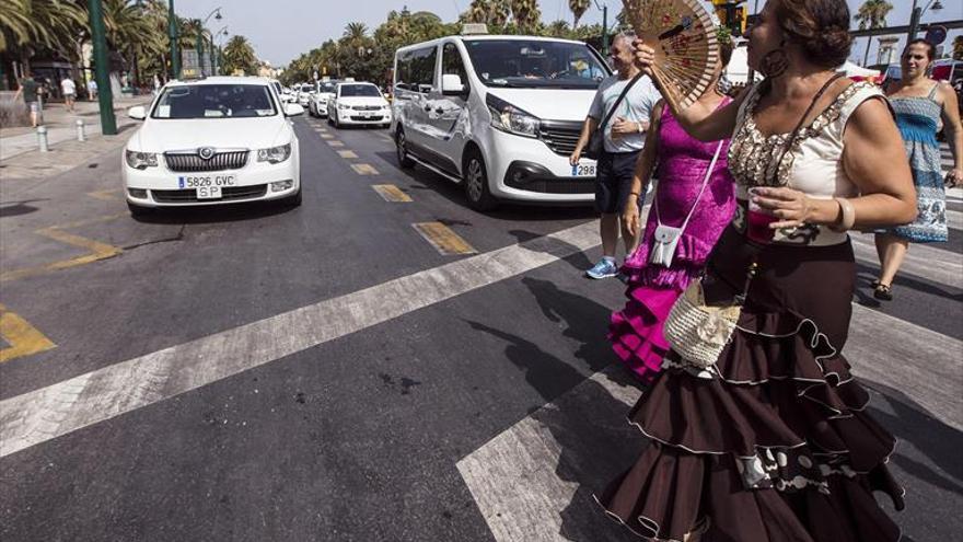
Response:
MULTIPOLYGON (((849 199, 858 227, 896 226, 916 219, 916 188, 903 139, 889 106, 867 100, 852 115, 843 136, 843 169, 859 188, 849 199)), ((838 224, 843 210, 835 199, 813 199, 792 188, 762 188, 753 197, 779 221, 770 228, 803 223, 838 224)))

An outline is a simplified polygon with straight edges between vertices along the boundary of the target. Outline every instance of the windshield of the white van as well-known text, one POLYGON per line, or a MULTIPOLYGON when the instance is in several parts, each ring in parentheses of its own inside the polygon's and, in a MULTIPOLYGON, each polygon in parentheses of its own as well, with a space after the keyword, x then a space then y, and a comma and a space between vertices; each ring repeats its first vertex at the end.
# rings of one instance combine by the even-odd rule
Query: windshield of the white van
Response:
POLYGON ((596 89, 608 70, 585 44, 527 39, 466 39, 475 73, 486 85, 596 89))

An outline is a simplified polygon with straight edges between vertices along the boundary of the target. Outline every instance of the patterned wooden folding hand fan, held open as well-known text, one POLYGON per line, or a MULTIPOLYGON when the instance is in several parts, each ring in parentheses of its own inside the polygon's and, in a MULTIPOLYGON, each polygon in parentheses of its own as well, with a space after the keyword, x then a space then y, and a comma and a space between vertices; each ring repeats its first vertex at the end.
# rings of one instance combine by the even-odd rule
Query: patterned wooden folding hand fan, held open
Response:
POLYGON ((700 0, 623 0, 625 14, 655 49, 652 76, 673 109, 693 104, 712 82, 719 59, 716 25, 700 0))

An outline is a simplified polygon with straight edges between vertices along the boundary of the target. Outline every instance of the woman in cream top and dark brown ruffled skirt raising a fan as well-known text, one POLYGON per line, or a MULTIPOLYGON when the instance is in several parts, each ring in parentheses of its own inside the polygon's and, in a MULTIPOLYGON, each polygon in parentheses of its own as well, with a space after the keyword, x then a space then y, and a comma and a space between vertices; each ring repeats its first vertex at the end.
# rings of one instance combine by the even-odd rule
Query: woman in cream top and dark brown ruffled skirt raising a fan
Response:
MULTIPOLYGON (((731 137, 738 207, 673 305, 672 350, 629 415, 651 442, 597 496, 643 538, 900 538, 871 493, 903 507, 885 465, 894 439, 842 355, 856 275, 846 230, 909 222, 916 198, 884 96, 835 74, 849 21, 845 0, 769 0, 749 45, 766 82, 711 113, 672 112, 699 140, 731 137)), ((677 96, 662 50, 637 43, 637 62, 677 96)))

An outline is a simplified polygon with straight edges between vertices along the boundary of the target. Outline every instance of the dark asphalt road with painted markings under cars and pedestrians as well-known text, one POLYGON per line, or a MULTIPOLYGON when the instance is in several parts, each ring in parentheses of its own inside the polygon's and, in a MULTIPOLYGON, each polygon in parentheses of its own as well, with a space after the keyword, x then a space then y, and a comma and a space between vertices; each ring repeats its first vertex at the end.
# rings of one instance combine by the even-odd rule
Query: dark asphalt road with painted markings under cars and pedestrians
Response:
MULTIPOLYGON (((591 209, 480 215, 384 130, 295 125, 297 209, 135 221, 119 151, 0 182, 0 539, 631 540, 591 500, 643 445, 591 209)), ((856 300, 918 542, 963 529, 961 243, 856 300)))

